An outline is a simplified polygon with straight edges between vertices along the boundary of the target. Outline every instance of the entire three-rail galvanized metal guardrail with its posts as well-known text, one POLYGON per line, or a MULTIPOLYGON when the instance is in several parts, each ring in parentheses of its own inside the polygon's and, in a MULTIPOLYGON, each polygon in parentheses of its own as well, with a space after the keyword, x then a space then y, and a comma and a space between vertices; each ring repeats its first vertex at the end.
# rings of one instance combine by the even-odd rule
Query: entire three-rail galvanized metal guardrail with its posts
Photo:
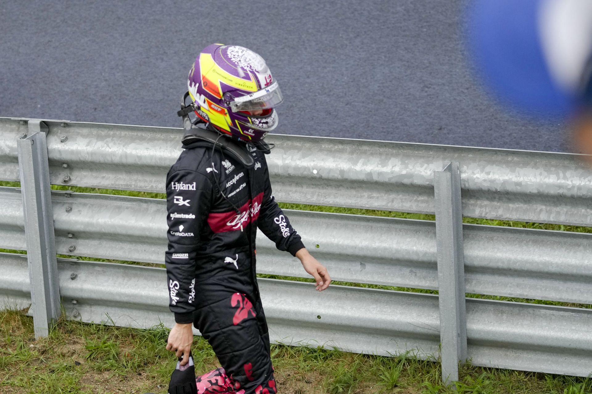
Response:
MULTIPOLYGON (((164 191, 180 135, 179 129, 0 118, 0 178, 22 178, 26 196, 0 188, 0 248, 30 251, 28 269, 23 256, 0 255, 0 272, 9 272, 0 274, 0 302, 36 306, 36 336, 56 317, 58 286, 68 318, 99 322, 108 314, 117 325, 172 324, 162 269, 52 262, 54 247, 63 255, 162 263, 165 201, 47 190, 51 181, 164 191), (32 234, 44 238, 39 243, 32 234), (30 277, 36 285, 28 284, 30 277)), ((585 356, 592 347, 591 310, 463 297, 466 289, 592 303, 592 234, 462 224, 461 217, 462 210, 464 216, 589 226, 592 171, 577 167, 578 155, 269 140, 278 144, 268 162, 280 201, 436 213, 431 222, 289 211, 334 279, 440 290, 435 296, 334 286, 318 295, 307 284, 261 280, 275 340, 363 353, 441 352, 446 383, 458 379, 458 362, 466 357, 483 366, 592 372, 585 356)), ((303 275, 262 235, 258 244, 260 273, 303 275)))

